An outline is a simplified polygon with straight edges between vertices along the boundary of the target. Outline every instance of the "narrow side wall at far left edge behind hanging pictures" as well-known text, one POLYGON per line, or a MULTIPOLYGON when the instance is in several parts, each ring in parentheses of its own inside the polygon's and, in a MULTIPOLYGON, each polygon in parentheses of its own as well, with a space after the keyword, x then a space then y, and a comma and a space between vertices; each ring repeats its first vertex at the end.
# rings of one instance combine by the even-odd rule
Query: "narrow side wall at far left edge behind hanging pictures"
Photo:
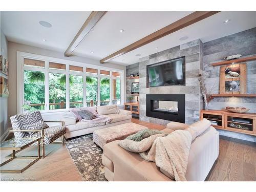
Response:
MULTIPOLYGON (((8 45, 4 32, 1 29, 1 48, 0 55, 8 59, 8 45)), ((8 79, 5 74, 0 74, 8 79)), ((2 136, 4 132, 8 129, 8 97, 0 97, 0 135, 2 136)))

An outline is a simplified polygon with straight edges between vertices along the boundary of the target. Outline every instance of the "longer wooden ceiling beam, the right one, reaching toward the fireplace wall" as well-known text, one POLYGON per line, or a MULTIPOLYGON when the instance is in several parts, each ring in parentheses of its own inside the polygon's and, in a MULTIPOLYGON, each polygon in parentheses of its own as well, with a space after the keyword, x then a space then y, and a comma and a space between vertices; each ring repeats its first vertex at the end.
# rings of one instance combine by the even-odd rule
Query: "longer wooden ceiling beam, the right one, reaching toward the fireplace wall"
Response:
POLYGON ((174 22, 166 27, 159 29, 158 31, 156 31, 150 35, 147 35, 146 37, 143 37, 142 39, 134 42, 133 44, 131 44, 123 49, 120 49, 119 51, 101 59, 100 63, 107 62, 107 61, 112 60, 118 56, 125 54, 125 53, 133 51, 133 50, 135 50, 139 47, 142 47, 146 44, 149 44, 150 42, 155 41, 161 37, 164 37, 166 35, 174 33, 180 29, 183 29, 183 28, 189 26, 189 25, 195 24, 195 23, 199 22, 200 20, 203 20, 203 19, 205 19, 211 15, 214 15, 218 12, 220 12, 220 11, 195 11, 195 12, 177 20, 176 22, 174 22))

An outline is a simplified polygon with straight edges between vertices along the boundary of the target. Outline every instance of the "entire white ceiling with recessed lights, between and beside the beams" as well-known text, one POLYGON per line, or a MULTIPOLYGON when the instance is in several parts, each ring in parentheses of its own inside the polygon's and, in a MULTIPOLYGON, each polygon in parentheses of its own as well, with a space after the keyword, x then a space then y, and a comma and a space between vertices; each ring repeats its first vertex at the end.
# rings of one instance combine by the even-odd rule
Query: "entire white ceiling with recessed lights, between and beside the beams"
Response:
MULTIPOLYGON (((102 59, 189 13, 191 12, 107 12, 73 54, 102 59), (120 29, 124 29, 124 32, 120 33, 120 29)), ((89 14, 90 12, 1 12, 1 28, 9 41, 64 53, 89 14), (40 26, 38 23, 40 20, 51 23, 52 28, 40 26)), ((131 65, 138 62, 140 57, 191 40, 200 38, 203 42, 207 42, 253 27, 256 27, 256 12, 220 12, 110 62, 131 65), (223 21, 226 19, 230 19, 230 22, 224 24, 223 21), (182 36, 189 38, 181 41, 179 38, 182 36), (141 56, 137 57, 136 54, 141 56)))

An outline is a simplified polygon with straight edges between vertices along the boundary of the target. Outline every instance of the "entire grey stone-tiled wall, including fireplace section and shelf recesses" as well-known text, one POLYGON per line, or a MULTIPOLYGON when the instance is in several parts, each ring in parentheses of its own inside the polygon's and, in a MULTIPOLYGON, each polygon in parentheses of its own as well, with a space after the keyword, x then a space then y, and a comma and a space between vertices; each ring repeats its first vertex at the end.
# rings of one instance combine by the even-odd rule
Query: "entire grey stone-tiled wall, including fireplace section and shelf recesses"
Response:
MULTIPOLYGON (((206 77, 206 87, 215 89, 212 93, 219 93, 220 67, 212 67, 212 62, 223 60, 225 56, 242 54, 243 57, 256 55, 256 28, 242 31, 219 39, 202 43, 201 40, 190 41, 186 44, 170 48, 150 56, 140 58, 139 63, 127 66, 127 75, 140 72, 140 120, 167 124, 169 121, 146 117, 146 94, 185 94, 186 123, 193 123, 199 119, 203 109, 197 75, 203 73, 206 77), (156 62, 185 56, 186 58, 186 86, 166 86, 147 88, 146 66, 156 62), (129 71, 130 70, 130 71, 129 71)), ((247 63, 247 93, 256 93, 256 61, 247 63)), ((131 80, 127 80, 127 94, 131 90, 131 80), (129 87, 130 86, 130 87, 129 87)), ((256 113, 256 98, 216 97, 209 103, 209 109, 221 110, 225 106, 245 106, 249 112, 256 113)), ((255 136, 218 130, 220 135, 256 142, 255 136)))

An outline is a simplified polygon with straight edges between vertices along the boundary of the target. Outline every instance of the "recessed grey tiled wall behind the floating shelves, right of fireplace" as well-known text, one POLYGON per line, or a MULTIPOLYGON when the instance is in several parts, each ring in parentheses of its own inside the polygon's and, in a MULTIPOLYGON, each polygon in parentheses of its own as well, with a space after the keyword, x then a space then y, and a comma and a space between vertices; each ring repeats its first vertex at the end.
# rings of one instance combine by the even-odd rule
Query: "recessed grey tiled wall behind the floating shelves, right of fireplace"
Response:
MULTIPOLYGON (((203 44, 204 75, 206 87, 216 88, 212 93, 219 94, 220 67, 212 67, 212 62, 223 60, 225 56, 241 54, 242 57, 256 55, 256 28, 242 31, 203 44)), ((246 62, 247 93, 256 93, 256 61, 246 62)), ((209 109, 222 110, 226 106, 245 106, 251 113, 256 113, 256 98, 246 97, 216 97, 209 103, 209 109)), ((255 136, 219 130, 220 135, 256 142, 255 136)))

